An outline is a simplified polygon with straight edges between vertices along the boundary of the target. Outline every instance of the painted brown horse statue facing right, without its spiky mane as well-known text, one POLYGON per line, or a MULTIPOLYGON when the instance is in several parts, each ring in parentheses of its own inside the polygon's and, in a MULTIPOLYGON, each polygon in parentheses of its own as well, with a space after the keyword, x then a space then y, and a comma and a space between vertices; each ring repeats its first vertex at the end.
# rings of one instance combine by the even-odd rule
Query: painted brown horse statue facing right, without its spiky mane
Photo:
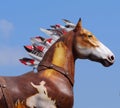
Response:
POLYGON ((0 108, 72 108, 76 59, 105 67, 115 60, 114 54, 82 27, 81 19, 48 49, 37 72, 0 77, 0 108))

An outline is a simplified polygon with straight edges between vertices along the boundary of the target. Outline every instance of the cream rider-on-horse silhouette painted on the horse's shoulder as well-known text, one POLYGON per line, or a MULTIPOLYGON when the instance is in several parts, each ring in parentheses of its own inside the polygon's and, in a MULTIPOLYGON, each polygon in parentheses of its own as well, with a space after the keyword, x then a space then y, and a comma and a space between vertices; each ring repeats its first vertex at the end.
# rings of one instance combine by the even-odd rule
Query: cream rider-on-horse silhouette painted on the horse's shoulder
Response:
POLYGON ((56 108, 55 101, 48 97, 45 87, 45 81, 41 81, 40 85, 31 85, 38 90, 38 93, 27 98, 26 105, 30 108, 56 108))

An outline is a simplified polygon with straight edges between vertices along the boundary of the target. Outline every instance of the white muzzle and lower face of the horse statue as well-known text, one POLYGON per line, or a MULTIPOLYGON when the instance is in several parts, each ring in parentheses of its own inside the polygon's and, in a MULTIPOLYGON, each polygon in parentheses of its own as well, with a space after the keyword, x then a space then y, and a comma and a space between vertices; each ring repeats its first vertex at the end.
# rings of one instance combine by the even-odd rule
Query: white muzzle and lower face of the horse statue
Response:
POLYGON ((83 47, 77 44, 76 50, 79 53, 79 58, 88 58, 93 61, 101 62, 104 66, 110 66, 114 63, 114 54, 101 42, 97 42, 96 47, 83 47))

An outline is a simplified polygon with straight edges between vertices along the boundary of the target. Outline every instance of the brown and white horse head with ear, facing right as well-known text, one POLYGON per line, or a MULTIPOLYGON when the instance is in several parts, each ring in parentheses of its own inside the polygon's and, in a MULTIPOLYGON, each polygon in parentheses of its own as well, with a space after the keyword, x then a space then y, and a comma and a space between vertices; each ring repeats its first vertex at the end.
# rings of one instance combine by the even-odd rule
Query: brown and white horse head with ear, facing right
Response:
POLYGON ((74 32, 74 51, 76 58, 100 62, 108 67, 114 63, 114 54, 103 45, 90 31, 82 27, 81 19, 74 32))

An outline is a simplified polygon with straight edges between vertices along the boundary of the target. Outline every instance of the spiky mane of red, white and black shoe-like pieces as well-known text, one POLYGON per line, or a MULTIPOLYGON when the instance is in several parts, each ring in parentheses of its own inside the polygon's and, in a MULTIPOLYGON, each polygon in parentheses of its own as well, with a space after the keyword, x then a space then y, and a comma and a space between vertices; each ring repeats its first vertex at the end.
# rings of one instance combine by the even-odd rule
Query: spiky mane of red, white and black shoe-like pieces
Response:
POLYGON ((71 21, 63 19, 64 26, 55 24, 50 26, 50 29, 40 28, 42 32, 51 36, 51 38, 44 38, 42 36, 36 36, 31 38, 31 45, 24 46, 29 56, 32 58, 23 57, 19 59, 20 62, 27 66, 37 68, 38 64, 42 61, 44 55, 49 48, 63 35, 75 28, 75 24, 71 21))

